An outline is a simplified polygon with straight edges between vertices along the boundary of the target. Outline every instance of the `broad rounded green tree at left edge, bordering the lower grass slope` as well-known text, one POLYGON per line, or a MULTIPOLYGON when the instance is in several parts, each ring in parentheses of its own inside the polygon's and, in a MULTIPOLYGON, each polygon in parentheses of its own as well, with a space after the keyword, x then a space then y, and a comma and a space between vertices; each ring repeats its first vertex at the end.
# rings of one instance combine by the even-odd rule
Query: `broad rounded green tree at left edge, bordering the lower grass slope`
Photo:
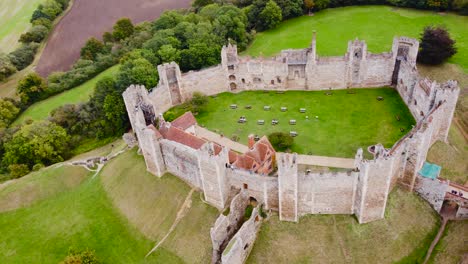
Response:
POLYGON ((42 163, 51 165, 67 158, 69 140, 65 129, 49 121, 23 126, 4 144, 3 163, 26 164, 29 168, 42 163))

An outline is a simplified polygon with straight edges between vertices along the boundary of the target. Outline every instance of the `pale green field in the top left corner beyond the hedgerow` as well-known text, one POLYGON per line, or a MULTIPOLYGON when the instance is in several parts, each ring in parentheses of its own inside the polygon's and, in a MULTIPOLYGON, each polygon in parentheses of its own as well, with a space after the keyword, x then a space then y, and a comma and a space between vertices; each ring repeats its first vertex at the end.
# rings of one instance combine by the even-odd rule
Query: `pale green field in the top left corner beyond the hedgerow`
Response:
POLYGON ((0 52, 8 53, 18 46, 18 39, 31 24, 29 20, 37 6, 44 0, 0 1, 0 52))

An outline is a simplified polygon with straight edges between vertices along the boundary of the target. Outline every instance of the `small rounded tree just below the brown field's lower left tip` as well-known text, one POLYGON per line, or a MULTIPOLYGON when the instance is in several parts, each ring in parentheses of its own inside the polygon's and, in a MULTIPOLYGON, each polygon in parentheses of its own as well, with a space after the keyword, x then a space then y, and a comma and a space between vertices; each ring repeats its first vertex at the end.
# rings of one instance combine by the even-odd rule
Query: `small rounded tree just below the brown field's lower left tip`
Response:
POLYGON ((31 104, 39 101, 47 89, 47 85, 37 73, 30 73, 21 79, 16 87, 16 92, 24 104, 31 104))

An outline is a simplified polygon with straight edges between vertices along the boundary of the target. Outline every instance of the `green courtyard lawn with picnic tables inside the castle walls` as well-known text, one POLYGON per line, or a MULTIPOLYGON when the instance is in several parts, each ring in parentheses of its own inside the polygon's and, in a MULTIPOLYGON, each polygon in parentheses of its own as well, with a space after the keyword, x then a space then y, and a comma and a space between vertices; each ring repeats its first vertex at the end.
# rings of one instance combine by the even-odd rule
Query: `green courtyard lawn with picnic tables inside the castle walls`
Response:
MULTIPOLYGON (((325 95, 323 91, 223 93, 210 97, 206 111, 196 118, 199 125, 229 138, 237 135, 242 143, 247 142, 249 134, 263 136, 278 131, 297 131, 292 151, 337 157, 354 157, 358 148, 376 143, 391 147, 414 124, 396 90, 353 91, 354 94, 349 94, 346 90, 336 90, 332 95, 325 95), (376 100, 378 96, 384 100, 376 100), (237 104, 238 108, 230 109, 231 104, 237 104), (247 105, 252 109, 245 109, 247 105), (264 111, 265 105, 271 106, 271 110, 264 111), (288 107, 288 111, 281 112, 282 106, 288 107), (299 108, 306 108, 307 112, 301 114, 299 108), (245 116, 247 123, 239 124, 240 116, 245 116), (265 125, 258 125, 259 119, 265 120, 265 125), (279 124, 271 125, 272 119, 278 119, 279 124), (290 119, 295 119, 297 124, 289 125, 290 119), (404 132, 400 128, 404 128, 404 132)), ((178 110, 179 113, 184 111, 181 106, 178 110)))

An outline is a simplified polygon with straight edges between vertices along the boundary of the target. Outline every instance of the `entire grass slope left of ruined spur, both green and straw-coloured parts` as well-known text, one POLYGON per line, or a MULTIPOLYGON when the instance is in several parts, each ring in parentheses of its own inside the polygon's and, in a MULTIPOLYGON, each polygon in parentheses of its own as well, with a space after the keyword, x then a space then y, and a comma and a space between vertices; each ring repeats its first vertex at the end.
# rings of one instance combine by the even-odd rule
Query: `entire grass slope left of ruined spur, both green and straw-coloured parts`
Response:
POLYGON ((59 263, 69 248, 94 250, 103 263, 208 263, 218 211, 198 192, 174 232, 145 258, 190 190, 172 175, 157 178, 145 168, 134 149, 96 177, 57 165, 0 186, 0 211, 10 210, 0 213, 0 263, 59 263))

